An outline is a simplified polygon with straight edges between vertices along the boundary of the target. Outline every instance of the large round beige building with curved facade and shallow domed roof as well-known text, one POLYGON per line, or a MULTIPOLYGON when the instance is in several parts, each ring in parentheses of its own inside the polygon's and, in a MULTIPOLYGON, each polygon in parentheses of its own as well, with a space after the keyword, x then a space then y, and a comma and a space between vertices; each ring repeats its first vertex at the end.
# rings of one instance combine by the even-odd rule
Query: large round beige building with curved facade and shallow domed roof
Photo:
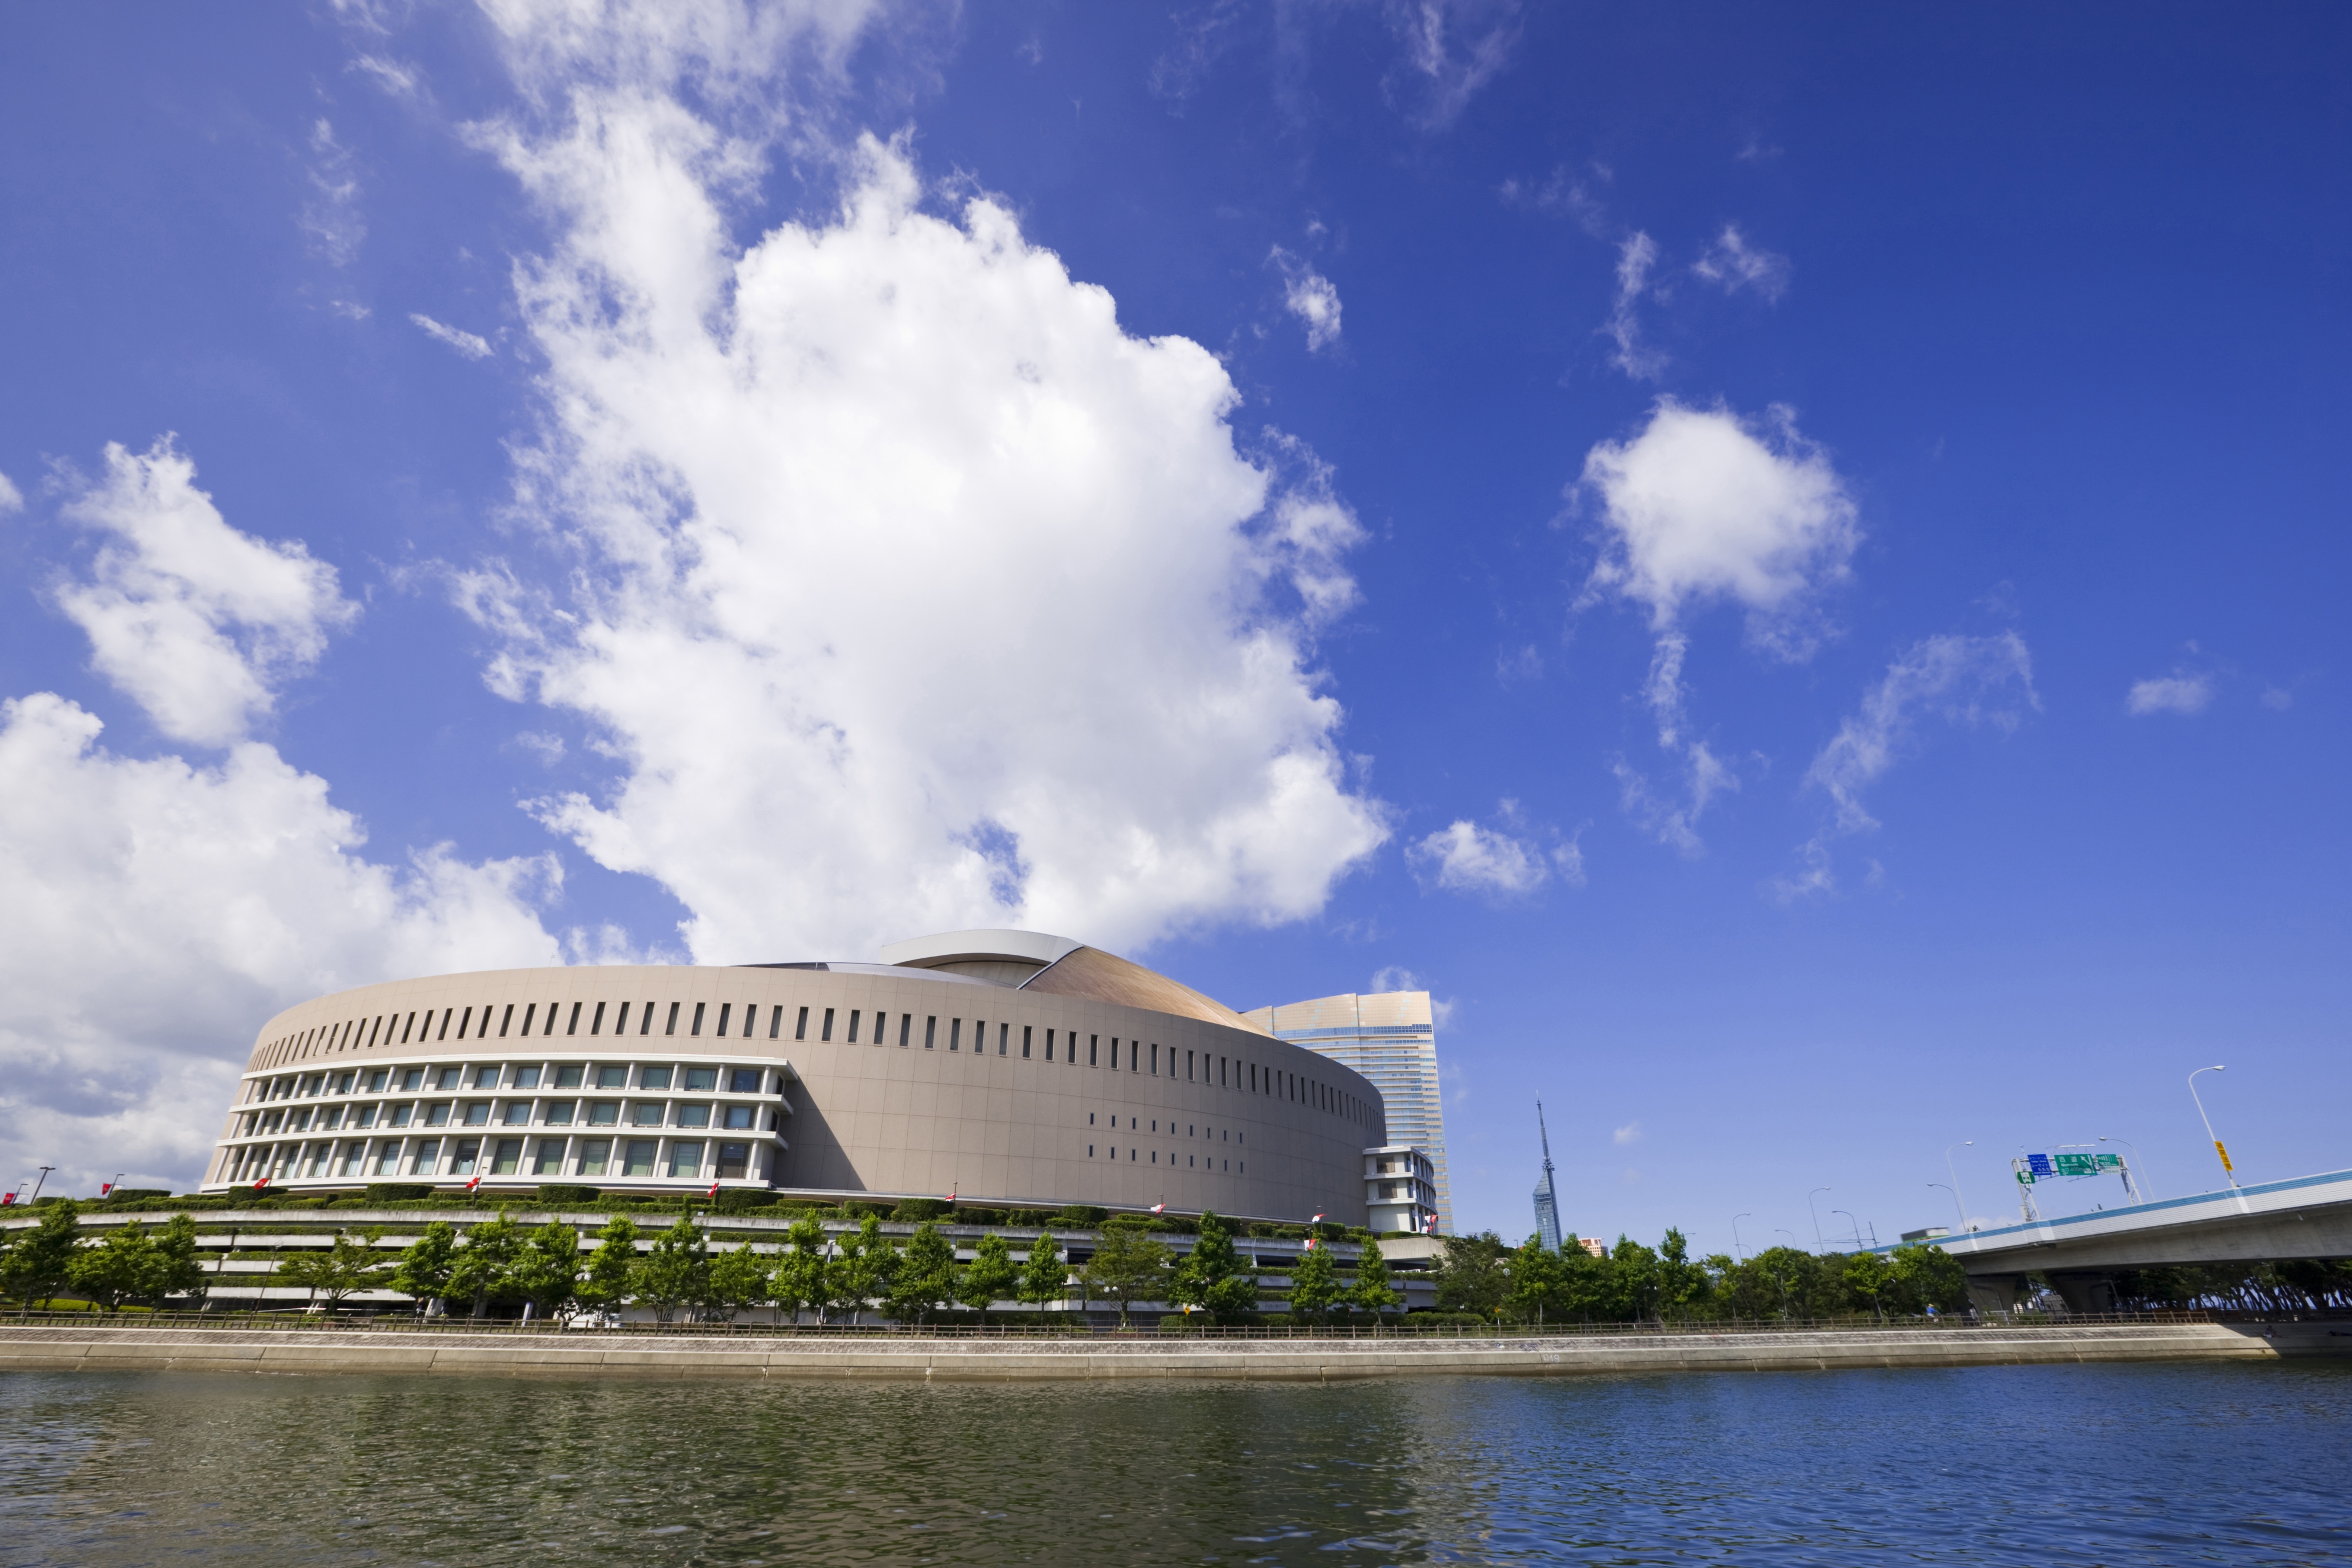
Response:
POLYGON ((1364 1222, 1385 1114, 1348 1067, 1094 947, 927 940, 898 964, 508 969, 303 1001, 261 1030, 207 1190, 720 1182, 1364 1222))

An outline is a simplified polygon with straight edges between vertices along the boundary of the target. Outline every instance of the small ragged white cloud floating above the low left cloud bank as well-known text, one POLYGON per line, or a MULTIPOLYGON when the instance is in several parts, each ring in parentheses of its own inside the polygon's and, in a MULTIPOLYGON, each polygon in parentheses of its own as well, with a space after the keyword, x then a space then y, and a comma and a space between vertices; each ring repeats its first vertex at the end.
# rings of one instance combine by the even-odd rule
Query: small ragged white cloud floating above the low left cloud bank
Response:
POLYGON ((242 738, 270 712, 273 684, 358 616, 334 567, 299 541, 228 527, 172 437, 143 454, 106 447, 106 473, 64 512, 103 543, 87 578, 54 588, 56 604, 89 635, 99 675, 172 738, 242 738))

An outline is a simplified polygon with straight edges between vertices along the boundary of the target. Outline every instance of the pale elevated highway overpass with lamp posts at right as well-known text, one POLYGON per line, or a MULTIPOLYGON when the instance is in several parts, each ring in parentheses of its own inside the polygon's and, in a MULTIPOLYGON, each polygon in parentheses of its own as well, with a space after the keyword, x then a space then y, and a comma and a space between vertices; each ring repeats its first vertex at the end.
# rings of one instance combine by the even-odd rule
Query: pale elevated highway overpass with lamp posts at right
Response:
MULTIPOLYGON (((2042 1274, 2077 1312, 2114 1309, 2117 1269, 2352 1258, 2352 1171, 1931 1237, 1959 1258, 1978 1309, 2042 1274)), ((1891 1248, 1879 1248, 1891 1251, 1891 1248)))

